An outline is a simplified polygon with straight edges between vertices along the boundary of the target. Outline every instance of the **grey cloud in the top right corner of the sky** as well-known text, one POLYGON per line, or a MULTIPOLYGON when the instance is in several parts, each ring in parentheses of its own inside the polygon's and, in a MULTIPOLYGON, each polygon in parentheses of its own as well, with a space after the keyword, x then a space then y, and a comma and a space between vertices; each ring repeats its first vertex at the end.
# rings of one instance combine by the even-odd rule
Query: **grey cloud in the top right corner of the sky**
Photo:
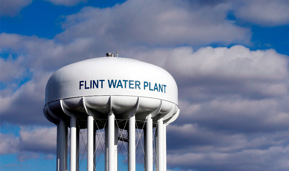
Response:
MULTIPOLYGON (((216 0, 190 1, 191 6, 218 6, 226 4, 228 11, 236 17, 236 21, 244 24, 258 24, 266 27, 289 24, 289 3, 287 0, 216 0)), ((229 13, 230 13, 229 12, 229 13)))

